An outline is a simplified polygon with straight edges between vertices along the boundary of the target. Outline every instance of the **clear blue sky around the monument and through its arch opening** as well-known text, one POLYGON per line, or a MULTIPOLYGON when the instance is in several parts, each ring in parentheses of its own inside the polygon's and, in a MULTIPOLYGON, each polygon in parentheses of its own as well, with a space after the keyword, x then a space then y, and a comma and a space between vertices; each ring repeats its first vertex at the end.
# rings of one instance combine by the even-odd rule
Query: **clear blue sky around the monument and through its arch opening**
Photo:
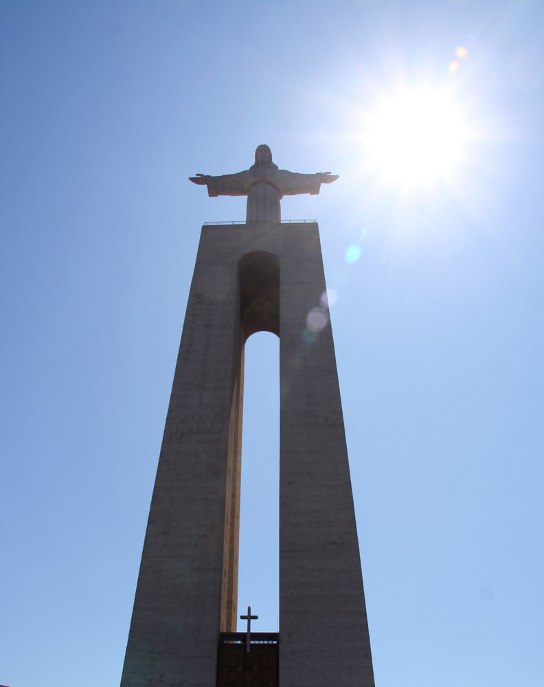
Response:
MULTIPOLYGON (((541 687, 543 2, 3 0, 0 22, 0 683, 119 684, 200 227, 245 216, 187 178, 267 143, 340 174, 282 213, 317 218, 336 293, 376 684, 541 687), (365 166, 399 81, 462 103, 455 182, 365 166)), ((239 601, 275 631, 277 344, 248 348, 239 601)))

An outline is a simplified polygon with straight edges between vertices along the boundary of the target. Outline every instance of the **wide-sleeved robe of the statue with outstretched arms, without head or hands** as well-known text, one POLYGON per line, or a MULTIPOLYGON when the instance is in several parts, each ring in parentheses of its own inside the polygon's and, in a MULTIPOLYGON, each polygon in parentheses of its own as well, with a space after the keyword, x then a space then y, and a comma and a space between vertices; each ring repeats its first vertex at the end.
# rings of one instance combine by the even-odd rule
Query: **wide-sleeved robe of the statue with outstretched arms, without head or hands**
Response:
POLYGON ((206 175, 205 180, 209 196, 247 196, 247 222, 279 222, 283 196, 318 194, 321 177, 321 173, 299 174, 260 166, 221 177, 206 175))

